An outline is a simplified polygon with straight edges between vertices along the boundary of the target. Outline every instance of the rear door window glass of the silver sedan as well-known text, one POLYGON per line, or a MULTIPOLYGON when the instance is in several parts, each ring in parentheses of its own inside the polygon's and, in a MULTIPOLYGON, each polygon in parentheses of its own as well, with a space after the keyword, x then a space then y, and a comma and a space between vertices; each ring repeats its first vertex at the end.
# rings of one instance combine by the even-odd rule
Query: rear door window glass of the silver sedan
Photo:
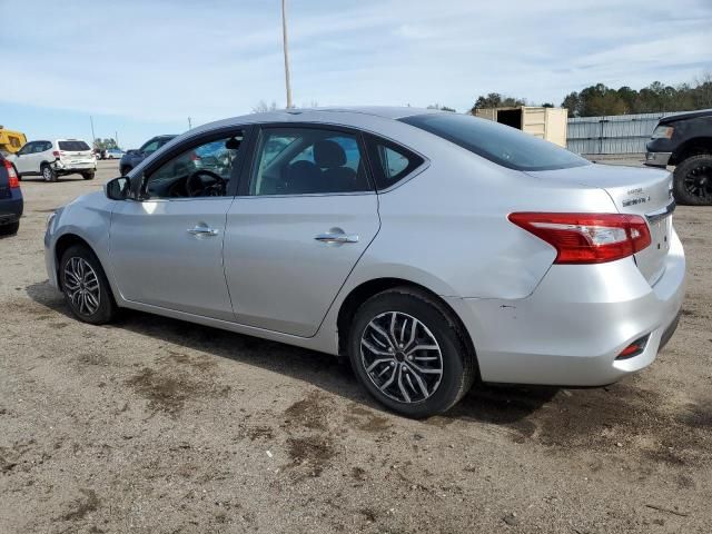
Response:
POLYGON ((269 128, 260 136, 250 195, 368 191, 356 136, 315 128, 269 128))

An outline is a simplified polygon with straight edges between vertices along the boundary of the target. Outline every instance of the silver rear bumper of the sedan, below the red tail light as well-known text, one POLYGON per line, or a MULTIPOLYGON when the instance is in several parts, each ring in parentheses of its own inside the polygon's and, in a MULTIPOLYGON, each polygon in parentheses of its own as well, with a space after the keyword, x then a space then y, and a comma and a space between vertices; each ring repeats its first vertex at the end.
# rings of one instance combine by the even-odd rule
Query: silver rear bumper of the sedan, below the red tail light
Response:
POLYGON ((600 386, 650 365, 672 336, 684 296, 685 258, 673 234, 654 286, 633 258, 553 265, 535 291, 517 300, 451 298, 469 332, 484 382, 600 386), (645 349, 616 356, 650 335, 645 349))

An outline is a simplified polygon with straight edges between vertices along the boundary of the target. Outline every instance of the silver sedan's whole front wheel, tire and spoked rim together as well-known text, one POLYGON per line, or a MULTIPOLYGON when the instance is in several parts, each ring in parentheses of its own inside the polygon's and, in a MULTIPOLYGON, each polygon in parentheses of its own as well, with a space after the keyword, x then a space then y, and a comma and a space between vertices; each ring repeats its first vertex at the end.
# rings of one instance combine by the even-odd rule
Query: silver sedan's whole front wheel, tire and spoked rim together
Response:
POLYGON ((65 300, 79 320, 101 325, 117 313, 109 281, 97 256, 82 245, 69 247, 59 264, 65 300))

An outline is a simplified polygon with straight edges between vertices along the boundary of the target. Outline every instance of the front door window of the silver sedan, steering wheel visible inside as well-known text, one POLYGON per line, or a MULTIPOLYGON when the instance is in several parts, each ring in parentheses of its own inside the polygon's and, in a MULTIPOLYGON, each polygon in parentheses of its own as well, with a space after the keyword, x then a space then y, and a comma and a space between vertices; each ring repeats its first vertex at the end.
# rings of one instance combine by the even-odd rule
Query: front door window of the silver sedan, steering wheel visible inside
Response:
POLYGON ((156 199, 227 195, 241 144, 240 132, 182 151, 147 176, 141 197, 156 199))

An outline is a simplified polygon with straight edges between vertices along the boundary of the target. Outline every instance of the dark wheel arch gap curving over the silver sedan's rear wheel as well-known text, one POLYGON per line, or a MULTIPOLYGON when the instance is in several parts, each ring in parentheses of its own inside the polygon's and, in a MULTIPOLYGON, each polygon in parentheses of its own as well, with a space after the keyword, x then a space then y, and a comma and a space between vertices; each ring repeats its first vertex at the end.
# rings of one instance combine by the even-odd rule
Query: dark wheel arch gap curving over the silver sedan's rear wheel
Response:
MULTIPOLYGON (((336 318, 338 354, 340 356, 346 355, 349 328, 353 323, 354 315, 356 314, 356 310, 359 308, 359 306, 374 295, 377 295, 387 289, 393 289, 395 287, 407 287, 414 289, 423 294, 424 296, 427 296, 438 307, 441 307, 442 312, 447 314, 457 325, 463 343, 467 347, 467 350, 474 358, 475 363, 477 363, 477 354, 475 350, 475 345, 472 340, 472 336, 468 334, 465 324, 461 319, 459 315, 453 309, 453 307, 449 306, 449 304, 447 304, 447 301, 439 295, 437 295, 432 289, 423 286, 422 284, 397 277, 373 278, 370 280, 364 281, 354 287, 348 293, 346 298, 344 298, 339 306, 338 315, 336 318)), ((479 366, 477 365, 477 375, 478 368, 479 366)))

